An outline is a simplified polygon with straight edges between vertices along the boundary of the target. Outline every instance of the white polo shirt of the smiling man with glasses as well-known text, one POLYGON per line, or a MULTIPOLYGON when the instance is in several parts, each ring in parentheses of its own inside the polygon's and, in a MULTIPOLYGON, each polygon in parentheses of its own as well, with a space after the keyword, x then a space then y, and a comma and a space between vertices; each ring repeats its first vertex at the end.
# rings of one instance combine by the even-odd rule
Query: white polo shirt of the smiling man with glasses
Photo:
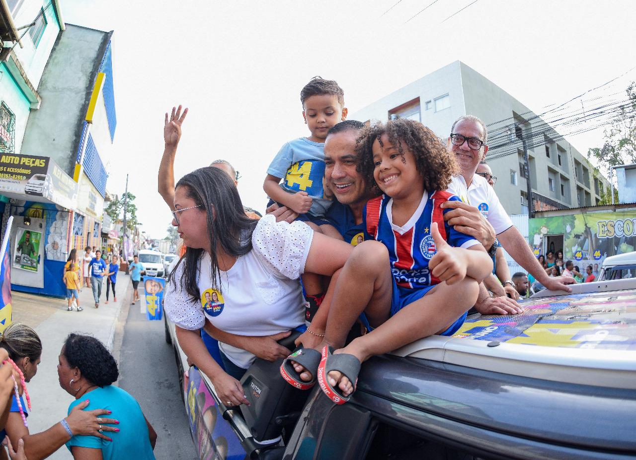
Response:
POLYGON ((471 186, 466 186, 464 176, 453 177, 446 191, 459 196, 459 199, 467 205, 475 206, 481 215, 488 220, 495 229, 495 234, 502 233, 513 226, 504 206, 499 203, 499 198, 488 181, 480 175, 473 175, 471 186))

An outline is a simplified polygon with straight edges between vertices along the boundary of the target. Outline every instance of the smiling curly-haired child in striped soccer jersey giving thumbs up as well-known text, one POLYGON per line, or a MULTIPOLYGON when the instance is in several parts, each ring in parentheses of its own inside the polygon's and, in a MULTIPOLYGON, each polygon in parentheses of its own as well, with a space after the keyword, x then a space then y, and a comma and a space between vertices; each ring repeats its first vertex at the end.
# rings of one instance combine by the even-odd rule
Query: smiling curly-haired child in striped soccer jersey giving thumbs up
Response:
MULTIPOLYGON (((457 166, 431 130, 410 119, 378 123, 364 128, 357 152, 366 183, 384 194, 363 214, 365 240, 375 241, 354 248, 329 309, 317 380, 336 403, 349 400, 371 356, 452 335, 492 270, 483 246, 444 221, 441 203, 459 200, 443 191, 457 166), (359 315, 370 333, 338 349, 359 315)), ((294 370, 303 380, 316 372, 298 363, 294 370)))

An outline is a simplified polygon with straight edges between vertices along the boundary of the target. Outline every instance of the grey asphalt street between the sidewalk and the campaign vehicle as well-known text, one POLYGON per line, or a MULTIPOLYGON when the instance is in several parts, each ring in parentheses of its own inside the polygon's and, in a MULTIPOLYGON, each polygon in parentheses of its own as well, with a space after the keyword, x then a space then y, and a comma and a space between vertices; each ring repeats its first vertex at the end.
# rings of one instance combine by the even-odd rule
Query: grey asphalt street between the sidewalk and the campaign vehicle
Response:
POLYGON ((181 400, 174 353, 165 342, 163 321, 148 321, 146 315, 139 313, 139 304, 130 305, 132 286, 126 297, 129 307, 124 306, 120 316, 125 323, 120 321, 123 339, 118 386, 134 396, 155 428, 157 460, 198 460, 181 400))

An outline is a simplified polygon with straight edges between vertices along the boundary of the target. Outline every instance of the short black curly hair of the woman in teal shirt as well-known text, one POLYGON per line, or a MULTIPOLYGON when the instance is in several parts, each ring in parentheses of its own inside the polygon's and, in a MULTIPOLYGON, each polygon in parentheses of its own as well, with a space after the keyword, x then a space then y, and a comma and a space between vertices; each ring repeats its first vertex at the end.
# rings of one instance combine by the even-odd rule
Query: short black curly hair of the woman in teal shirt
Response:
POLYGON ((117 362, 106 346, 90 335, 69 334, 64 341, 64 357, 93 385, 106 386, 119 377, 117 362))

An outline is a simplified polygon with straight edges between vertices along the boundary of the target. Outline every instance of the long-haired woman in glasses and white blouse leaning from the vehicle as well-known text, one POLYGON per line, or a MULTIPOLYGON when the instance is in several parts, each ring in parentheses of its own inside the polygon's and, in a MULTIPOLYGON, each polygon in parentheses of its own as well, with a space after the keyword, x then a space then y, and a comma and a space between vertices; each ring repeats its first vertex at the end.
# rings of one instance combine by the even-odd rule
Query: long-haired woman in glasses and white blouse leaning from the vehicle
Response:
POLYGON ((333 275, 351 247, 303 222, 277 223, 272 215, 249 219, 237 188, 218 168, 201 168, 179 180, 174 208, 172 225, 188 249, 170 277, 165 311, 181 348, 219 398, 226 405, 246 403, 238 380, 256 356, 242 339, 301 328, 300 274, 333 275), (225 372, 199 334, 206 322, 221 332, 216 338, 225 372))

